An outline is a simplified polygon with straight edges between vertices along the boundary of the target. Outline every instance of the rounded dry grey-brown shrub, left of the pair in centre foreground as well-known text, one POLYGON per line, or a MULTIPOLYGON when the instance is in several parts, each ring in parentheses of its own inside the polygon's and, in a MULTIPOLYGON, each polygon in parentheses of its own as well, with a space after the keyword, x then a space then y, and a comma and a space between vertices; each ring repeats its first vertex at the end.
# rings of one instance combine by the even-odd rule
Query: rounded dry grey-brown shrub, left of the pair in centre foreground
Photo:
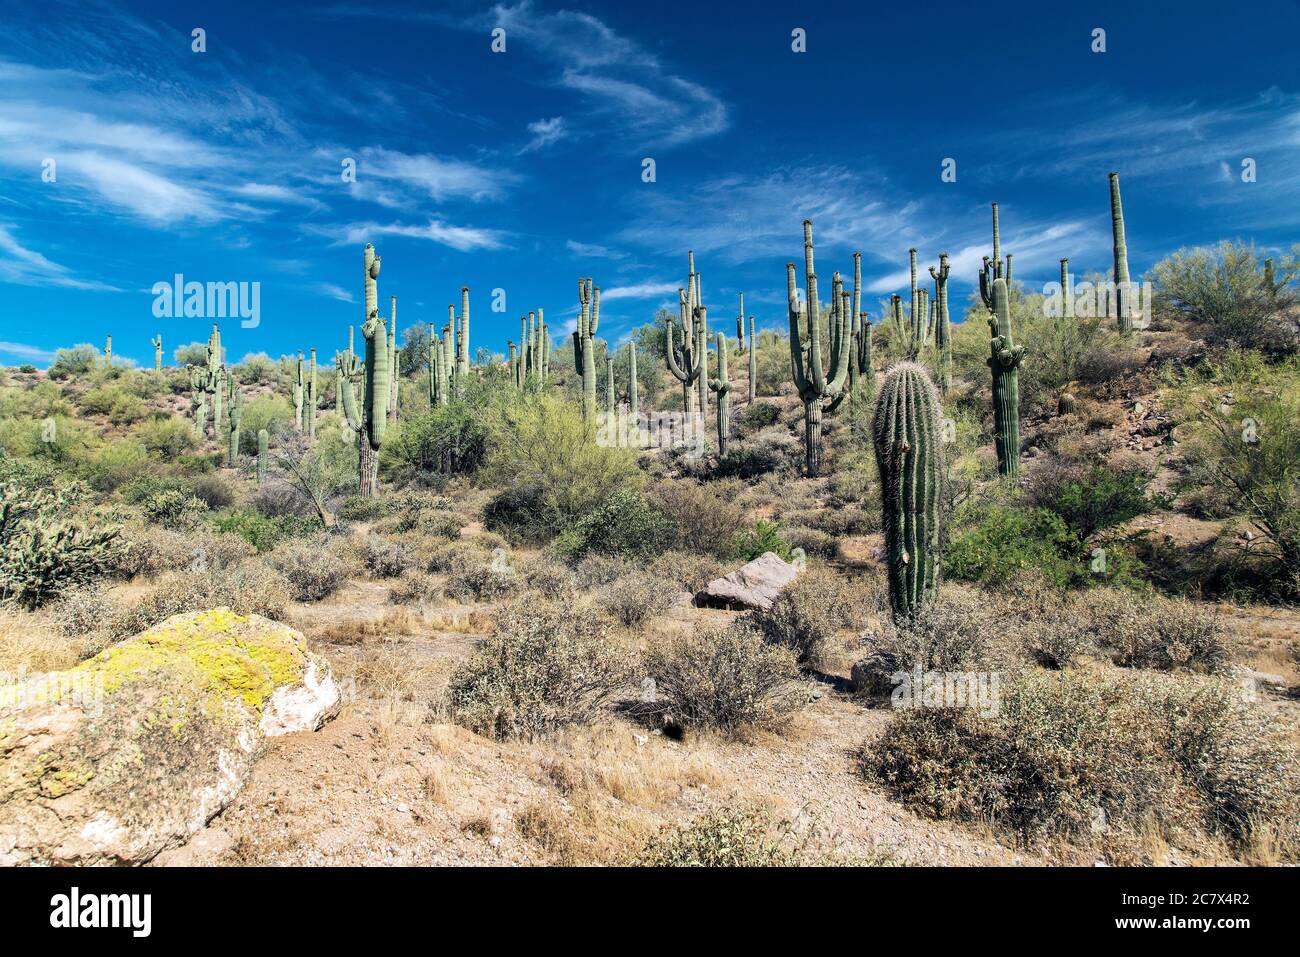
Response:
POLYGON ((627 651, 593 615, 524 598, 451 676, 458 724, 495 739, 537 739, 595 718, 630 675, 627 651))

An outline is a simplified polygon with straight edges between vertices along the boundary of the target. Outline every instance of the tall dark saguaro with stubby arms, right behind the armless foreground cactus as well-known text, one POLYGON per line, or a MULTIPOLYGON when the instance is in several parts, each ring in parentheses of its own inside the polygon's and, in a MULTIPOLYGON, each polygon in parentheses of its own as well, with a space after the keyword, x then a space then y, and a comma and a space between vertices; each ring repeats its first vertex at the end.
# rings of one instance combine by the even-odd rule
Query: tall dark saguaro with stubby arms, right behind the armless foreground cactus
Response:
POLYGON ((1024 346, 1015 345, 1011 332, 1011 254, 1001 257, 997 203, 993 203, 993 257, 984 256, 979 277, 980 299, 989 311, 989 358, 993 373, 993 445, 997 471, 1014 477, 1020 468, 1020 361, 1024 346))

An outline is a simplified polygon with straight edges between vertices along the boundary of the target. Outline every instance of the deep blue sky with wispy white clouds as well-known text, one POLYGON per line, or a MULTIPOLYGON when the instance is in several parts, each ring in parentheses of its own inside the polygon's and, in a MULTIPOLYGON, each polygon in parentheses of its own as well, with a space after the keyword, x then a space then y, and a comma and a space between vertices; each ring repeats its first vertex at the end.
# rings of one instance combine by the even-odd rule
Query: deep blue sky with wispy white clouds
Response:
POLYGON ((989 200, 1027 283, 1061 256, 1105 269, 1110 169, 1135 273, 1183 244, 1296 239, 1296 3, 1049 7, 0 0, 0 363, 205 338, 153 316, 176 273, 261 283, 261 324, 222 324, 231 356, 329 355, 361 317, 367 241, 402 328, 441 326, 469 286, 476 348, 538 306, 562 330, 578 276, 618 339, 675 308, 688 248, 715 328, 741 290, 784 326, 805 217, 823 276, 862 250, 875 319, 909 246, 948 251, 965 296, 989 200))

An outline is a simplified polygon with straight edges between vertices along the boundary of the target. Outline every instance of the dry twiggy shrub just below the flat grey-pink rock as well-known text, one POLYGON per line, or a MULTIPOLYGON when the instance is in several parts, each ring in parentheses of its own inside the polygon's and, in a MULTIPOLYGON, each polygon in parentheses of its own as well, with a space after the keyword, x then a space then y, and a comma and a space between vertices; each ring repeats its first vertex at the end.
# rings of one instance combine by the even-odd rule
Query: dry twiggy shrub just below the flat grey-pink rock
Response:
POLYGON ((794 651, 742 623, 660 638, 645 670, 658 694, 649 707, 682 728, 777 728, 809 700, 794 651))

